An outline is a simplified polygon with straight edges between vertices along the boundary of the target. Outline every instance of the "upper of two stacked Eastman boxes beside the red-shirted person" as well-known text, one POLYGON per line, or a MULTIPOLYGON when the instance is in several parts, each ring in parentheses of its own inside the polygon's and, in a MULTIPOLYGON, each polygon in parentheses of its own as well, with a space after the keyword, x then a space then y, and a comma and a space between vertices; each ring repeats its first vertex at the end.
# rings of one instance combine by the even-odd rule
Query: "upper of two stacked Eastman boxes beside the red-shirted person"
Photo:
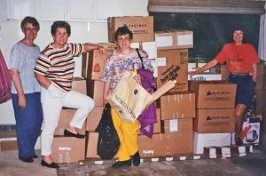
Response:
POLYGON ((226 81, 190 81, 196 108, 234 108, 237 85, 226 81))

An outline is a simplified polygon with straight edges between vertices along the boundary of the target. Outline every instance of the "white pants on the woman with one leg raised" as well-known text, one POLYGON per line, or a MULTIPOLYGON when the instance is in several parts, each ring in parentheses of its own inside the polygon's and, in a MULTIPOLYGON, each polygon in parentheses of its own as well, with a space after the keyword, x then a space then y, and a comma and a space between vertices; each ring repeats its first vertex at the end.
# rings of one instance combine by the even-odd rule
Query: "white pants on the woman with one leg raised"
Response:
POLYGON ((77 108, 70 125, 81 129, 95 103, 80 92, 61 92, 52 84, 48 90, 42 88, 41 100, 43 106, 42 156, 50 156, 53 134, 58 126, 62 107, 77 108))

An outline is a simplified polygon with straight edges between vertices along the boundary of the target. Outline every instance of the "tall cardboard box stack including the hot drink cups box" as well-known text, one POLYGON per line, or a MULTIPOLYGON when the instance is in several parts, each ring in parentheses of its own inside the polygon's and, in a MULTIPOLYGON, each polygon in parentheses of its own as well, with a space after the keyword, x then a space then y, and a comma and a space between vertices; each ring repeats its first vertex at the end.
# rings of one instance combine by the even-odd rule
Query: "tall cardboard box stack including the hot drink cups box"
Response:
POLYGON ((149 139, 138 136, 140 156, 174 156, 192 153, 192 118, 195 117, 195 94, 188 92, 188 48, 192 31, 162 31, 155 33, 157 45, 157 79, 159 88, 168 80, 176 86, 157 102, 160 108, 161 132, 149 139), (158 145, 160 144, 160 145, 158 145))

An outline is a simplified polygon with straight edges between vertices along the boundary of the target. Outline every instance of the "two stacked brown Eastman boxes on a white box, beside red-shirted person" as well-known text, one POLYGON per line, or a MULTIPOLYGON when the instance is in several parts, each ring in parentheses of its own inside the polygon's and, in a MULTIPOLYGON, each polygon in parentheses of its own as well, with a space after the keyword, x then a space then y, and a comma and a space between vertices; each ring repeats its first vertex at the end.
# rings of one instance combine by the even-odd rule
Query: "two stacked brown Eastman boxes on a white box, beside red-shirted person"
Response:
POLYGON ((194 153, 202 154, 204 147, 231 145, 231 132, 235 130, 236 84, 226 81, 190 82, 190 90, 196 93, 194 153))

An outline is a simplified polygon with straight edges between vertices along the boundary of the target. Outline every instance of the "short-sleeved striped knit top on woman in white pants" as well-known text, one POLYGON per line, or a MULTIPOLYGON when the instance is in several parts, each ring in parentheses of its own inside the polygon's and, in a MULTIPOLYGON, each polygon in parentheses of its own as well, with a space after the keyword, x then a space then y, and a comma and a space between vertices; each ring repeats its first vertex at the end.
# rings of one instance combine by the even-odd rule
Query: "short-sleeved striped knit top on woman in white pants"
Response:
POLYGON ((71 90, 74 75, 74 59, 82 54, 83 44, 66 43, 63 48, 49 44, 40 53, 35 73, 48 78, 63 92, 71 90))

